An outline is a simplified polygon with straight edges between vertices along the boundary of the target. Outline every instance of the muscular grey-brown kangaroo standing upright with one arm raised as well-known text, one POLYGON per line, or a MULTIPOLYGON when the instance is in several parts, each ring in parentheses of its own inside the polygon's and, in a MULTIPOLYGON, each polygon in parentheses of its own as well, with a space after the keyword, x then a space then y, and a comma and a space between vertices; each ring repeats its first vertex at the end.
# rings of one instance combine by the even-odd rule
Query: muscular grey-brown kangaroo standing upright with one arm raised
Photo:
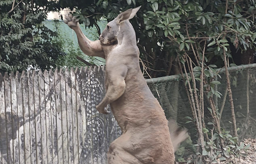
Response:
POLYGON ((110 144, 107 163, 173 164, 174 149, 186 139, 186 132, 169 122, 175 141, 172 144, 163 109, 142 75, 135 31, 129 22, 140 7, 126 10, 107 23, 95 41, 82 33, 76 17, 69 14, 65 23, 77 34, 86 55, 106 59, 107 92, 96 109, 108 114, 105 107, 110 104, 123 133, 110 144))

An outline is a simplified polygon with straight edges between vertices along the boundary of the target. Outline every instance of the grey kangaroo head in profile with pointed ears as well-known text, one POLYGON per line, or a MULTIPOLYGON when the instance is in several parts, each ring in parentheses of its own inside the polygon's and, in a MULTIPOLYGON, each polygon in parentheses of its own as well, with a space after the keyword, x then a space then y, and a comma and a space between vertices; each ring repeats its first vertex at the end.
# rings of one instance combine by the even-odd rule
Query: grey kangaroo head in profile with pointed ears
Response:
POLYGON ((137 11, 141 6, 135 9, 128 9, 122 13, 120 13, 114 20, 107 23, 106 28, 102 31, 99 36, 99 40, 101 44, 110 46, 118 43, 118 36, 123 35, 122 31, 125 30, 122 28, 124 26, 125 21, 133 18, 137 11))

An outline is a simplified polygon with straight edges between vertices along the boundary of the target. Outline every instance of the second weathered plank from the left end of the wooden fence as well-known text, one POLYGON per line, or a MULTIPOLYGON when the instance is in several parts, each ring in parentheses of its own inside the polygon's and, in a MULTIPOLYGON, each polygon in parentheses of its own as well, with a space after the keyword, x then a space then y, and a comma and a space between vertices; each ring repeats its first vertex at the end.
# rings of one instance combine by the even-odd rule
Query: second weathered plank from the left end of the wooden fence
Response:
POLYGON ((5 73, 5 118, 6 118, 6 140, 7 140, 7 159, 8 163, 13 163, 13 144, 12 144, 12 112, 11 112, 11 88, 10 78, 5 73))

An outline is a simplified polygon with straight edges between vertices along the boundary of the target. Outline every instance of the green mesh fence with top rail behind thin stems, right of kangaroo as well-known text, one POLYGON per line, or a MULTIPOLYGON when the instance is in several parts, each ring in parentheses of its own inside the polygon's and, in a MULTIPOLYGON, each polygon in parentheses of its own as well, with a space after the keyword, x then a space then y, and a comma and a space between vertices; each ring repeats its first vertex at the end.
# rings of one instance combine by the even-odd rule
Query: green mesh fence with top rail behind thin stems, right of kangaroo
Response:
MULTIPOLYGON (((218 77, 216 80, 221 84, 217 85, 216 89, 222 96, 221 98, 214 97, 215 105, 221 113, 221 127, 232 131, 226 74, 224 69, 220 72, 221 78, 218 77)), ((230 67, 229 73, 239 137, 256 138, 256 64, 230 67)), ((196 144, 198 139, 196 125, 194 122, 186 123, 188 121, 186 116, 191 118, 193 116, 183 79, 174 75, 147 79, 147 83, 165 111, 166 118, 174 119, 179 125, 187 128, 193 144, 196 144)), ((204 97, 204 118, 207 124, 212 121, 212 117, 207 109, 210 107, 207 95, 205 94, 204 97)))

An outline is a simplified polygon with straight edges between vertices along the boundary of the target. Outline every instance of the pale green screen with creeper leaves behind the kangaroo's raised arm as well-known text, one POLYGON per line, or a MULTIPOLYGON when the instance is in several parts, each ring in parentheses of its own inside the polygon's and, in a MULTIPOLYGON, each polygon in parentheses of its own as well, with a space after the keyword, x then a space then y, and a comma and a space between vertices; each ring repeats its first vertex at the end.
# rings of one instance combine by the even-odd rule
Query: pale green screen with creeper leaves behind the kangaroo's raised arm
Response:
MULTIPOLYGON (((103 24, 100 24, 100 26, 106 26, 106 22, 102 22, 103 24)), ((53 30, 57 33, 57 36, 52 39, 53 43, 56 43, 58 45, 61 45, 63 52, 66 53, 66 55, 61 56, 56 61, 57 65, 63 65, 63 67, 83 67, 87 66, 85 63, 78 60, 76 57, 79 56, 82 59, 85 59, 87 62, 89 62, 91 65, 104 65, 103 62, 105 61, 102 58, 95 59, 94 57, 85 55, 82 50, 80 49, 77 41, 77 36, 74 33, 74 31, 67 26, 64 22, 61 22, 59 20, 53 20, 53 21, 46 21, 44 22, 45 26, 53 30)), ((81 24, 80 27, 84 34, 87 36, 87 38, 91 40, 98 39, 97 30, 95 28, 90 28, 90 30, 85 31, 85 25, 81 24)))

